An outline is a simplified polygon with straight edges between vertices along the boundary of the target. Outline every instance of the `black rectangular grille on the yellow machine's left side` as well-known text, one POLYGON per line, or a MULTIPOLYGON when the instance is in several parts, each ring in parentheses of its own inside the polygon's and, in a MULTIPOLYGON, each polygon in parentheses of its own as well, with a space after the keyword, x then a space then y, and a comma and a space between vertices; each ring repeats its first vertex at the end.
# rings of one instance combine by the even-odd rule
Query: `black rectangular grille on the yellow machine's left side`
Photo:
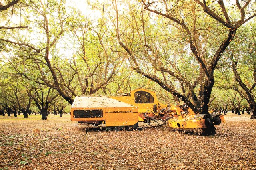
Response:
POLYGON ((74 118, 103 117, 102 110, 74 110, 74 118))

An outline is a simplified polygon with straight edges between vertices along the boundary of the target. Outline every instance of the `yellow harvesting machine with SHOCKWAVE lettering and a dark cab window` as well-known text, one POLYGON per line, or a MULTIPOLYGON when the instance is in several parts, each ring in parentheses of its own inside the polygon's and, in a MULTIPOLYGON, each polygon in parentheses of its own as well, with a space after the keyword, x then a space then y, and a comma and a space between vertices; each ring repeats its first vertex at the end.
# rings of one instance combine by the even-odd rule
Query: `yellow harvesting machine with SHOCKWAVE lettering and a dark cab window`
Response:
POLYGON ((187 105, 165 105, 156 93, 137 89, 119 96, 76 97, 71 107, 71 120, 106 127, 107 130, 137 129, 138 122, 177 129, 201 128, 203 134, 215 134, 214 125, 224 123, 221 114, 194 113, 187 105))

